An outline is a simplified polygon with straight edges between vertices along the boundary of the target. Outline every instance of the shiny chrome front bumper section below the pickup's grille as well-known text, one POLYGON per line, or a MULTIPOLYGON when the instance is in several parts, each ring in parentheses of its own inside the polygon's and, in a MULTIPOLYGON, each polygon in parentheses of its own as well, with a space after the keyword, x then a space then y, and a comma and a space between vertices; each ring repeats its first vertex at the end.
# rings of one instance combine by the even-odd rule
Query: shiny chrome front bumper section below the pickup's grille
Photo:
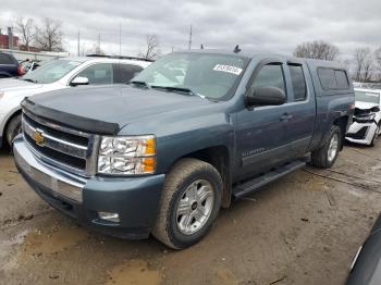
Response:
MULTIPOLYGON (((13 142, 14 160, 29 184, 41 185, 54 197, 62 196, 82 203, 86 179, 48 165, 36 158, 22 135, 13 142)), ((32 186, 32 185, 30 185, 32 186)), ((37 186, 38 187, 38 186, 37 186)))

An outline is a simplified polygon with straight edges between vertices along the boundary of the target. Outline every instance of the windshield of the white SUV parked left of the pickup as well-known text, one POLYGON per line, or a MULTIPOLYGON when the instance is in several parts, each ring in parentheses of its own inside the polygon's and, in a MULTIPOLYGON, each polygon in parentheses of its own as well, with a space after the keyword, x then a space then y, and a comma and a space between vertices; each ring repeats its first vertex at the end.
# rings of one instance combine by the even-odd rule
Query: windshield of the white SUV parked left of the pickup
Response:
POLYGON ((69 72, 78 66, 81 62, 71 60, 53 60, 35 71, 21 77, 23 80, 29 80, 34 83, 49 84, 61 79, 69 72))

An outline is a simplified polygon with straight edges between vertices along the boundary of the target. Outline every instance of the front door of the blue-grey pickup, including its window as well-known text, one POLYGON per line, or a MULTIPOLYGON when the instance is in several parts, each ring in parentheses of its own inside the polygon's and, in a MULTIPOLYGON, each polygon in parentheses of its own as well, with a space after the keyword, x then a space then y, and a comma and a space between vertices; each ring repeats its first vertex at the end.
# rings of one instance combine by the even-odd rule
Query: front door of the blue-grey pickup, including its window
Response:
MULTIPOLYGON (((283 61, 267 61, 254 72, 248 90, 278 87, 286 95, 283 61)), ((237 154, 239 179, 268 171, 286 161, 291 144, 287 139, 287 103, 246 108, 237 114, 237 154)))

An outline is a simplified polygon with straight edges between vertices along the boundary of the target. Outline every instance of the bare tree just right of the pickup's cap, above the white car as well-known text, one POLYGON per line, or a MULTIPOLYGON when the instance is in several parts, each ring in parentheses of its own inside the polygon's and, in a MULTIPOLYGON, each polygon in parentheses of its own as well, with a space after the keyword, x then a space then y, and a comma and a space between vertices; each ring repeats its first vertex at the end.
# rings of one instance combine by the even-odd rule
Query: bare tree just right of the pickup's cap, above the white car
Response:
POLYGON ((373 59, 369 48, 355 50, 356 77, 358 82, 369 82, 373 75, 373 59))

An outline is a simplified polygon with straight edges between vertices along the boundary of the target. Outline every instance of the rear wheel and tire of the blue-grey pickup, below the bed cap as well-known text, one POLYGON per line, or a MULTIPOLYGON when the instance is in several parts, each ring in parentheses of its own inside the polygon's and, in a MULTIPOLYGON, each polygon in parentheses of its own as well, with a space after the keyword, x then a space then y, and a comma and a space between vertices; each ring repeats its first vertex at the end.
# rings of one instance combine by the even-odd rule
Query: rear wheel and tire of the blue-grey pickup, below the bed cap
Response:
POLYGON ((337 159, 342 139, 343 137, 341 128, 336 125, 333 125, 330 129, 330 134, 325 144, 321 148, 312 151, 311 164, 319 169, 330 169, 337 159), (334 153, 331 152, 334 150, 333 148, 335 148, 334 153))

